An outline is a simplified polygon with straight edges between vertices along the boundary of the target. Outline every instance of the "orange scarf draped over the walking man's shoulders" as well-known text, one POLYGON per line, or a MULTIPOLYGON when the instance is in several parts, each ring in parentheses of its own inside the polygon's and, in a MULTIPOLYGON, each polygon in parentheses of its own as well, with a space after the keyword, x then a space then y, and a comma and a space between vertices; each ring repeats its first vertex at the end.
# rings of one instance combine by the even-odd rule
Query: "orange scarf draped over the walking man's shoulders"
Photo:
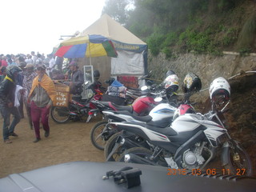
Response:
MULTIPOLYGON (((56 90, 55 90, 55 86, 54 86, 54 82, 46 74, 43 74, 41 82, 38 82, 38 78, 39 77, 37 76, 36 78, 34 78, 34 80, 32 82, 30 95, 33 93, 34 88, 36 86, 42 86, 42 88, 44 90, 46 90, 46 93, 49 95, 51 101, 54 101, 54 98, 57 95, 56 90)), ((30 97, 30 95, 29 95, 29 97, 30 97)))

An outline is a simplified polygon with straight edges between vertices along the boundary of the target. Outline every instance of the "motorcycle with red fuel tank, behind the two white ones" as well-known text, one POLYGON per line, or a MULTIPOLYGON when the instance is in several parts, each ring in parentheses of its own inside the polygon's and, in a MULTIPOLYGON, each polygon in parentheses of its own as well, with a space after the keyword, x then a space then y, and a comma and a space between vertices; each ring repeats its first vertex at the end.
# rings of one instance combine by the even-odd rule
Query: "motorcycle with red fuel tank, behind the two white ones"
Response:
POLYGON ((98 110, 90 110, 91 113, 102 113, 106 120, 98 122, 90 130, 90 140, 98 150, 104 150, 106 141, 118 130, 110 126, 109 122, 123 122, 123 121, 147 121, 150 119, 148 114, 150 110, 157 106, 159 102, 154 101, 155 94, 147 93, 144 96, 137 98, 131 106, 117 106, 112 102, 98 102, 93 101, 98 110), (154 95, 154 96, 153 96, 154 95), (119 117, 118 117, 119 116, 119 117), (142 117, 142 118, 140 118, 142 117))

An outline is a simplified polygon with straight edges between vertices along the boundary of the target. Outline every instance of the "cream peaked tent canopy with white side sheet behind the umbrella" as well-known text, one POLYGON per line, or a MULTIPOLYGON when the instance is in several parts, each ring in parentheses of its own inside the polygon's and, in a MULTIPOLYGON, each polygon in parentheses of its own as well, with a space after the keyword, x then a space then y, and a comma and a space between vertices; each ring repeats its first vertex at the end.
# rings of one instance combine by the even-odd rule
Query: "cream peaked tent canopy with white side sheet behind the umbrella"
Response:
POLYGON ((147 74, 147 45, 109 15, 103 14, 79 35, 101 34, 110 38, 118 53, 111 58, 111 74, 147 74))

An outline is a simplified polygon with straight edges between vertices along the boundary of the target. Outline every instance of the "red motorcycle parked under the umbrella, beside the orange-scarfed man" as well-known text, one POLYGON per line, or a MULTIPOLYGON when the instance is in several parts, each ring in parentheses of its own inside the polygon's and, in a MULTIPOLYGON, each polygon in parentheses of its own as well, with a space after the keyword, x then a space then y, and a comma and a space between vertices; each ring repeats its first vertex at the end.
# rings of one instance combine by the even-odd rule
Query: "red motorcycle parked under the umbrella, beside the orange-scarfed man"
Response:
MULTIPOLYGON (((94 82, 86 90, 91 90, 93 93, 87 99, 82 99, 80 95, 78 97, 74 96, 70 100, 68 107, 53 106, 50 110, 50 116, 54 122, 65 123, 69 120, 85 121, 84 118, 87 118, 90 110, 97 108, 91 101, 102 100, 104 93, 100 82, 94 82)), ((88 120, 87 118, 87 121, 90 121, 90 119, 88 120)))

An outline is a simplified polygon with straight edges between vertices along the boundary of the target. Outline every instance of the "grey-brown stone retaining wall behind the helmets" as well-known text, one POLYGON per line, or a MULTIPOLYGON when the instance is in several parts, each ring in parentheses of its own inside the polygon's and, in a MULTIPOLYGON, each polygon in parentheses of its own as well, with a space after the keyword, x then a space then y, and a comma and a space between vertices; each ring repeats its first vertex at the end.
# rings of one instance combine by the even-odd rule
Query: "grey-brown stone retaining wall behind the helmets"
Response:
MULTIPOLYGON (((202 91, 195 98, 206 99, 209 95, 208 87, 214 78, 231 78, 240 74, 241 70, 256 70, 256 54, 242 57, 237 53, 228 52, 223 56, 179 54, 176 58, 166 60, 165 54, 152 57, 149 54, 148 70, 152 70, 152 78, 162 81, 167 70, 174 70, 178 75, 180 86, 188 72, 197 74, 202 80, 202 91)), ((181 90, 181 89, 180 89, 181 90)))

